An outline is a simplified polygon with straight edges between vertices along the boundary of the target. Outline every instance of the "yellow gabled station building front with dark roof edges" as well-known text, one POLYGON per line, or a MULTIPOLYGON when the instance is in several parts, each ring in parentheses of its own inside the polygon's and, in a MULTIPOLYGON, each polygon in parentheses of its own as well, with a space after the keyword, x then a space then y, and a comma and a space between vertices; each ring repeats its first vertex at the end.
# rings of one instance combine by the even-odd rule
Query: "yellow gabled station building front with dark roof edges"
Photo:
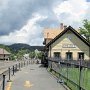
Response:
POLYGON ((44 44, 48 57, 64 60, 90 60, 90 43, 71 26, 63 29, 56 37, 54 36, 44 44))

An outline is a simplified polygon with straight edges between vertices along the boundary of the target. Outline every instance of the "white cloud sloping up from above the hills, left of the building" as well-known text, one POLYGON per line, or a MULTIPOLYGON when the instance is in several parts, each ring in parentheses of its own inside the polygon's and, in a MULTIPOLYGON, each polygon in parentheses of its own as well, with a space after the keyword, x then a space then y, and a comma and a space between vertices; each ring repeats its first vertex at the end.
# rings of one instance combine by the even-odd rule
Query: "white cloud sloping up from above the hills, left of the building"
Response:
POLYGON ((40 37, 40 34, 42 34, 42 27, 40 27, 37 22, 45 18, 47 17, 34 13, 33 18, 20 30, 10 33, 8 36, 1 36, 1 43, 27 43, 31 45, 33 42, 34 45, 37 45, 37 43, 38 45, 41 45, 42 42, 39 41, 42 41, 42 38, 40 37))

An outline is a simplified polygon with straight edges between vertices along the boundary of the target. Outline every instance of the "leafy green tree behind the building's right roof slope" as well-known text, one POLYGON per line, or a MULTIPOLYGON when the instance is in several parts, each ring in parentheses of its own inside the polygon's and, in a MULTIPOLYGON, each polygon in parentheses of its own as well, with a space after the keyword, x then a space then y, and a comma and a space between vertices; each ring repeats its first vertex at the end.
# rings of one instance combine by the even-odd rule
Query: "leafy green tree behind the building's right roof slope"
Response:
POLYGON ((90 21, 83 20, 83 27, 80 27, 80 34, 83 35, 88 42, 90 42, 90 21))

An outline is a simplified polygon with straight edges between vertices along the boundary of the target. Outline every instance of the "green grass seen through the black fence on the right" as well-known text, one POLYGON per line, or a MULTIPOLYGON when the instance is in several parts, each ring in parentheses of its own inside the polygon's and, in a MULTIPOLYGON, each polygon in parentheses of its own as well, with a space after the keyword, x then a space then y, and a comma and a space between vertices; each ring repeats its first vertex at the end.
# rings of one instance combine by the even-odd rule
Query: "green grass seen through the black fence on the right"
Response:
MULTIPOLYGON (((58 76, 58 74, 55 74, 54 71, 52 73, 55 76, 58 76)), ((60 67, 60 74, 62 74, 65 77, 68 77, 69 80, 75 82, 76 84, 79 85, 79 68, 68 68, 67 67, 60 67)), ((77 86, 75 86, 73 83, 67 81, 65 78, 61 77, 64 82, 71 88, 71 90, 79 90, 77 86)), ((90 90, 90 69, 83 68, 81 72, 81 87, 84 88, 85 90, 90 90)))

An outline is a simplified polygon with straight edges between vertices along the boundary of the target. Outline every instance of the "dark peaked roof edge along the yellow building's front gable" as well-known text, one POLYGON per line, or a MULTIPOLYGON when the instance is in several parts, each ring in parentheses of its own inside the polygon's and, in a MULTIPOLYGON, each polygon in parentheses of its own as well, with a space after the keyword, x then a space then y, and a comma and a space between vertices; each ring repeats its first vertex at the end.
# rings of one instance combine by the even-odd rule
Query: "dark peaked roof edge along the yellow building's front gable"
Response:
POLYGON ((57 35, 54 39, 52 39, 46 47, 50 46, 53 44, 57 39, 59 39, 61 36, 63 36, 67 31, 73 32, 78 38, 80 38, 86 45, 90 47, 90 43, 83 37, 81 36, 75 29, 73 29, 71 26, 68 26, 65 30, 63 30, 59 35, 57 35))

